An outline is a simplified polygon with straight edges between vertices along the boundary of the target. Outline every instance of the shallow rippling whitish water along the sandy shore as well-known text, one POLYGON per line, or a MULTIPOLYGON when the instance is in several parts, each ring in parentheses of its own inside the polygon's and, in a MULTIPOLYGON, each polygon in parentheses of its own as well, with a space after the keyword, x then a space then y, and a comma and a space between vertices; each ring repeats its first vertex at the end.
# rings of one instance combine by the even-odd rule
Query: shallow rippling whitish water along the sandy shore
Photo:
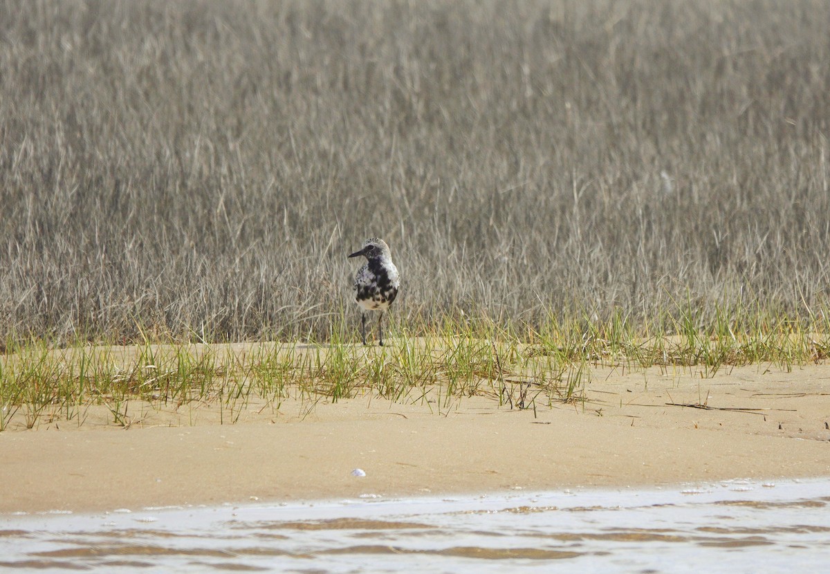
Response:
POLYGON ((818 572, 830 479, 0 517, 0 572, 818 572))

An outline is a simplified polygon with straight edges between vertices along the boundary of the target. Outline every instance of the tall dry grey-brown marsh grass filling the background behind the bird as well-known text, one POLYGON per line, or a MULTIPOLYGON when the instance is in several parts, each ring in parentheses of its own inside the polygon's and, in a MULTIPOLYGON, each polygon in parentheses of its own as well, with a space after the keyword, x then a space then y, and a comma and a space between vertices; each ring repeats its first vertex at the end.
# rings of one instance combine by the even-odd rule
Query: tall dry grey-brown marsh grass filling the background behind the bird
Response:
POLYGON ((2 0, 0 338, 329 338, 367 236, 427 329, 813 318, 828 29, 820 0, 2 0))

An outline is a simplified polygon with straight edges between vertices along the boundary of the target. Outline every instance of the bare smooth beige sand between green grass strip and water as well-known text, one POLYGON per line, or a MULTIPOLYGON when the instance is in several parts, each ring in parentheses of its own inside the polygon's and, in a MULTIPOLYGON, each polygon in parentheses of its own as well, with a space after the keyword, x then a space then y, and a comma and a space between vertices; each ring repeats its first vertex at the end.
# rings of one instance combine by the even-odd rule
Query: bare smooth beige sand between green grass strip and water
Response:
POLYGON ((129 430, 5 431, 0 512, 830 476, 830 365, 592 375, 583 403, 535 411, 359 396, 250 406, 234 425, 203 405, 129 430))

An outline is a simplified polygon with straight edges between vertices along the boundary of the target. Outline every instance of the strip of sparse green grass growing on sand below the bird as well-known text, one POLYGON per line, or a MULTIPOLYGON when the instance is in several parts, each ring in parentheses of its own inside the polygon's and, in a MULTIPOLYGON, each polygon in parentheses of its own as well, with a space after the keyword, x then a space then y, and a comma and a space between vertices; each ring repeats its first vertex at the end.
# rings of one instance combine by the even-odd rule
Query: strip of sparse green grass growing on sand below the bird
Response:
MULTIPOLYGON (((747 312, 748 313, 748 312, 747 312)), ((826 317, 826 314, 823 315, 826 317)), ((830 328, 757 314, 719 314, 708 325, 690 313, 671 331, 608 322, 556 321, 519 336, 496 323, 445 323, 441 330, 393 327, 385 348, 357 336, 320 343, 167 343, 131 346, 17 345, 0 357, 0 430, 60 421, 81 426, 90 410, 132 426, 151 411, 209 406, 217 422, 252 412, 279 416, 283 401, 311 411, 319 401, 369 395, 452 410, 464 396, 491 396, 510 409, 583 401, 595 367, 681 367, 700 377, 721 368, 822 362, 830 328)), ((193 424, 193 419, 181 421, 193 424)))

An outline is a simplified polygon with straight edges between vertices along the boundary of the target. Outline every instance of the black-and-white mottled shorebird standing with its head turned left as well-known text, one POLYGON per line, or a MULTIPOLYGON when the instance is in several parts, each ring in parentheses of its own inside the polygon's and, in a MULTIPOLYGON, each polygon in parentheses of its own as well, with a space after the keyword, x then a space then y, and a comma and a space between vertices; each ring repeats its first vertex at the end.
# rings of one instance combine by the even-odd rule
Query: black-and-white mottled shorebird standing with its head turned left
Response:
POLYGON ((380 311, 378 317, 378 337, 383 346, 383 328, 380 320, 383 311, 398 296, 401 285, 398 268, 392 262, 392 253, 386 242, 377 237, 364 241, 363 249, 355 251, 349 257, 363 255, 368 261, 354 275, 354 299, 360 305, 360 336, 366 344, 366 311, 380 311))

